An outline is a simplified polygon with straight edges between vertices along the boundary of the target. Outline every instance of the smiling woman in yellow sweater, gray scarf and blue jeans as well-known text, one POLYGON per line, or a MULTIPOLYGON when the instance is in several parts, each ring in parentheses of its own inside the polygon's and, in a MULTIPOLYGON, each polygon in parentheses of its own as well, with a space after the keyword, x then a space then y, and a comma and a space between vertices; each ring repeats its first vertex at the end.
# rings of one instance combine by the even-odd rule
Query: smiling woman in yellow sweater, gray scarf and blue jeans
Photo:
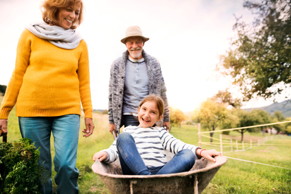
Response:
MULTIPOLYGON (((81 0, 45 0, 44 22, 21 33, 16 65, 0 108, 0 129, 7 135, 7 119, 16 104, 23 138, 40 146, 39 164, 51 173, 50 136, 54 137, 57 193, 77 194, 76 168, 81 103, 85 137, 93 133, 89 59, 86 42, 75 29, 81 24, 81 0), (81 103, 80 103, 81 101, 81 103)), ((52 181, 40 185, 52 194, 52 181)))

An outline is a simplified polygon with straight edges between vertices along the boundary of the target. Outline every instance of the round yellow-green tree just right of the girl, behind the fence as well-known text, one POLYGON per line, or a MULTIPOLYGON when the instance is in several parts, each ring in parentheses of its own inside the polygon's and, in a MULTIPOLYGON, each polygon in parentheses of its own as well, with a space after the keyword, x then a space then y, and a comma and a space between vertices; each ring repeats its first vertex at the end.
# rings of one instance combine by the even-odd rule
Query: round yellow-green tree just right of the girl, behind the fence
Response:
MULTIPOLYGON (((215 130, 216 127, 226 119, 227 109, 225 104, 218 104, 208 98, 204 101, 200 107, 194 112, 193 120, 201 123, 203 128, 215 130)), ((213 136, 213 132, 210 133, 210 137, 213 136)), ((210 142, 212 139, 210 138, 210 142)))

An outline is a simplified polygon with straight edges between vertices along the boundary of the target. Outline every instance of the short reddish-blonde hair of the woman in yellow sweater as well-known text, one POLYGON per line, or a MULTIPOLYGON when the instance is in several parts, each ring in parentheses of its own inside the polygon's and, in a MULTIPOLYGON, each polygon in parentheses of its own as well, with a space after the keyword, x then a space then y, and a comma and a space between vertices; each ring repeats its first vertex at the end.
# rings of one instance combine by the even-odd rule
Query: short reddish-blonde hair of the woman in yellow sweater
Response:
POLYGON ((57 14, 60 9, 65 9, 66 7, 74 6, 75 3, 81 2, 81 9, 79 13, 79 18, 77 21, 73 22, 71 29, 76 29, 83 21, 83 2, 82 0, 45 0, 41 5, 41 12, 43 15, 43 20, 47 24, 56 25, 58 23, 57 14))

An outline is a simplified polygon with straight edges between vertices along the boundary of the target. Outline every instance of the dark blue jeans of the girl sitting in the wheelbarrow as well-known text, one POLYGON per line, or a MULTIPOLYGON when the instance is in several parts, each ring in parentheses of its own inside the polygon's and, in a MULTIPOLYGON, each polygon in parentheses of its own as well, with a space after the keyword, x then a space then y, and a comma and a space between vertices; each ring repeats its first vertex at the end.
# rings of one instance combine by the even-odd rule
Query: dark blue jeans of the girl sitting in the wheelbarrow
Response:
POLYGON ((134 138, 129 133, 120 133, 116 138, 116 146, 123 175, 162 175, 187 172, 191 170, 196 159, 193 151, 183 149, 167 164, 147 167, 137 150, 134 138))

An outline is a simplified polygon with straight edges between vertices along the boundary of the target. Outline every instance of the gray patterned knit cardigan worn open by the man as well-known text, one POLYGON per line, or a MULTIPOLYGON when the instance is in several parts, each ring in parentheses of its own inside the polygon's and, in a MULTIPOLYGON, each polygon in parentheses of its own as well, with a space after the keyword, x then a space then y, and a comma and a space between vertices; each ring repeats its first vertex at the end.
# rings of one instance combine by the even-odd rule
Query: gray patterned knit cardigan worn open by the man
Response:
MULTIPOLYGON (((143 50, 142 54, 146 61, 148 71, 149 94, 156 94, 162 97, 165 105, 163 121, 170 121, 170 109, 166 96, 167 88, 162 77, 160 62, 156 58, 146 54, 145 50, 143 50)), ((112 63, 110 70, 108 116, 109 123, 115 125, 117 133, 119 133, 121 123, 125 68, 128 56, 129 52, 125 51, 122 57, 117 58, 112 63)))

